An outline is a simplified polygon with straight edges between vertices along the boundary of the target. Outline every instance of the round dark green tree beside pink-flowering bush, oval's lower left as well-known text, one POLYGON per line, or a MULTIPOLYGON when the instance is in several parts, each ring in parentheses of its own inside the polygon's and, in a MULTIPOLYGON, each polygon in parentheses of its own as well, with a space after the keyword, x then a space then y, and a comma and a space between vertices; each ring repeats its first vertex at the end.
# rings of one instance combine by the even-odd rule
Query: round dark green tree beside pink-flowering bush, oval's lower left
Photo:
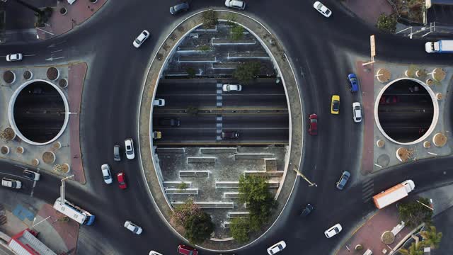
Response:
POLYGON ((206 212, 190 215, 184 222, 185 237, 193 243, 200 244, 210 237, 214 231, 214 223, 206 212))

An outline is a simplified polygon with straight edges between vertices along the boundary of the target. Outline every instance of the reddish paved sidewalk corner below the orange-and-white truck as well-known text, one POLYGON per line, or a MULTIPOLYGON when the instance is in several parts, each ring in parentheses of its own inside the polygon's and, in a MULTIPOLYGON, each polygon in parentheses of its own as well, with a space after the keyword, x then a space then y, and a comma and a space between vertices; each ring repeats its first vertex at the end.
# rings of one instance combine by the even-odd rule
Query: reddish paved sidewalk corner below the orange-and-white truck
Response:
POLYGON ((386 231, 391 231, 396 225, 400 223, 398 220, 398 210, 395 205, 389 205, 388 207, 379 210, 373 215, 364 225, 355 229, 352 236, 340 246, 340 249, 336 251, 337 255, 350 255, 354 252, 354 248, 357 244, 362 244, 363 249, 360 254, 363 254, 367 249, 370 249, 373 254, 383 254, 384 249, 386 254, 389 254, 391 248, 394 248, 408 233, 411 232, 411 228, 404 227, 401 232, 396 234, 395 240, 389 246, 386 246, 381 241, 381 236, 386 231), (348 250, 348 248, 350 251, 348 250))

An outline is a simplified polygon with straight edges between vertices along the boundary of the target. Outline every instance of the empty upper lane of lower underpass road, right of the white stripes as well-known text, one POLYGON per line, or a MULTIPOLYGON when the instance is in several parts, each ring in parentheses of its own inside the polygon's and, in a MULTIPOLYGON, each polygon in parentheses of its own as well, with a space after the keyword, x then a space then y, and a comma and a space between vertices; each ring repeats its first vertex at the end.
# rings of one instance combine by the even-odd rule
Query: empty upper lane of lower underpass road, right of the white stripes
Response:
POLYGON ((224 114, 222 128, 286 128, 289 126, 288 114, 224 114))

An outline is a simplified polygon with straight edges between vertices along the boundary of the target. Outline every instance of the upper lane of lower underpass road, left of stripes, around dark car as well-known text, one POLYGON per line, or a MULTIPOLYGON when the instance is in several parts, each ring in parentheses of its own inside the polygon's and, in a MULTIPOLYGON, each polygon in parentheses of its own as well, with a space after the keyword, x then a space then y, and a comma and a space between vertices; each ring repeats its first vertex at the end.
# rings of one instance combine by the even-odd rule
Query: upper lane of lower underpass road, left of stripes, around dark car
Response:
POLYGON ((153 129, 157 130, 162 128, 170 128, 174 130, 180 130, 184 128, 215 128, 217 115, 190 115, 188 113, 182 114, 165 114, 157 113, 153 114, 153 129), (168 127, 161 125, 161 121, 168 118, 174 118, 180 120, 179 127, 168 127))

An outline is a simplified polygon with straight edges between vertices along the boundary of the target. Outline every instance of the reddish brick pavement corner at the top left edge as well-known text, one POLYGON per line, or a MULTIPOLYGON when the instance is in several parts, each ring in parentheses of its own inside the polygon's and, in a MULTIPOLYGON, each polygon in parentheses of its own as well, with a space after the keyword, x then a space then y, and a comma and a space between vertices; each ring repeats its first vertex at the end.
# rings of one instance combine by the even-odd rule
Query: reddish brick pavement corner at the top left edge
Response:
POLYGON ((49 26, 36 29, 38 37, 42 40, 47 40, 67 33, 93 16, 107 1, 98 0, 96 4, 91 4, 88 0, 76 0, 74 4, 68 4, 67 1, 58 1, 57 7, 53 8, 54 11, 50 21, 47 22, 49 26), (61 14, 59 12, 60 8, 66 8, 67 13, 61 14), (47 31, 47 33, 43 30, 47 31))

